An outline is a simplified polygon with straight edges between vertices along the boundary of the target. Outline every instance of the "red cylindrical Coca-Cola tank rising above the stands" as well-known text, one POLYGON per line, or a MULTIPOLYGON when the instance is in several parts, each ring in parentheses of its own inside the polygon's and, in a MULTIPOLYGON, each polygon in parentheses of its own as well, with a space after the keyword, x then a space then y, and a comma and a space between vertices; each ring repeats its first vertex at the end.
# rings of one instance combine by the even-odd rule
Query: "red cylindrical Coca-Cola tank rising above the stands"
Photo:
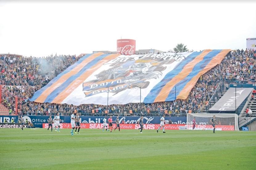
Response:
POLYGON ((133 55, 136 50, 136 41, 134 39, 118 39, 116 53, 121 55, 133 55))

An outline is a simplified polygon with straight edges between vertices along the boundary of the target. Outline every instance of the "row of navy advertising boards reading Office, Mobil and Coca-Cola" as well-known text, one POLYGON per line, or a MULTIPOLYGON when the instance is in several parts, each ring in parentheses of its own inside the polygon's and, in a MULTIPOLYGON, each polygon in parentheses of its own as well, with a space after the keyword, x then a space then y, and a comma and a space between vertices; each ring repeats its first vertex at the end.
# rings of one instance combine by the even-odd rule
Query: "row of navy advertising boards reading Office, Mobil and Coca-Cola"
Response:
MULTIPOLYGON (((105 116, 80 116, 81 123, 103 123, 103 119, 105 116)), ((23 119, 30 121, 34 124, 35 127, 43 127, 43 123, 48 123, 47 119, 49 116, 32 116, 32 115, 24 115, 23 119)), ((54 116, 52 116, 54 118, 54 116)), ((107 116, 107 119, 109 116, 107 116)), ((160 116, 145 116, 143 117, 144 124, 158 124, 160 123, 160 116)), ((60 123, 70 123, 71 116, 60 116, 60 123)), ((116 119, 116 116, 112 116, 113 121, 116 119)), ((119 116, 119 122, 124 120, 125 124, 136 124, 140 119, 140 116, 119 116)), ((171 120, 174 124, 186 124, 187 117, 184 116, 173 116, 173 117, 165 117, 166 123, 171 120)))

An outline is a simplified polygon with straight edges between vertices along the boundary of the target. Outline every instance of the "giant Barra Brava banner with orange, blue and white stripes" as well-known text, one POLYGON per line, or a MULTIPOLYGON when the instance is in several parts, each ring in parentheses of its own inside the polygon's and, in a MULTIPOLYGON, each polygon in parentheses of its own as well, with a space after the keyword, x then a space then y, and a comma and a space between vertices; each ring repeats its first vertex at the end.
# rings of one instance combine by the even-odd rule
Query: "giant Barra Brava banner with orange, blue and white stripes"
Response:
POLYGON ((67 104, 153 103, 186 99, 198 78, 230 50, 146 55, 87 54, 30 101, 67 104), (140 95, 141 89, 141 95, 140 95))

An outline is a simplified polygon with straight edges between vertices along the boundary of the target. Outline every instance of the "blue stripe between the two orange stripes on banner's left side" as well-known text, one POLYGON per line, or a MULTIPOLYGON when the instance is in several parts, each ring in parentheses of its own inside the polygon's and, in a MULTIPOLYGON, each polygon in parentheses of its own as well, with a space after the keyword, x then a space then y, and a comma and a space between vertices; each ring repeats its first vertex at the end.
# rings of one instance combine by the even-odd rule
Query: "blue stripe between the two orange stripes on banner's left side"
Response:
POLYGON ((77 74, 72 75, 61 86, 57 87, 54 91, 52 91, 51 94, 47 96, 44 102, 52 102, 55 99, 55 97, 57 97, 63 90, 67 88, 68 85, 70 85, 70 83, 72 83, 80 75, 84 74, 87 71, 87 69, 90 69, 92 66, 97 64, 100 60, 104 59, 108 55, 110 54, 100 55, 99 57, 93 59, 91 62, 87 63, 77 74))

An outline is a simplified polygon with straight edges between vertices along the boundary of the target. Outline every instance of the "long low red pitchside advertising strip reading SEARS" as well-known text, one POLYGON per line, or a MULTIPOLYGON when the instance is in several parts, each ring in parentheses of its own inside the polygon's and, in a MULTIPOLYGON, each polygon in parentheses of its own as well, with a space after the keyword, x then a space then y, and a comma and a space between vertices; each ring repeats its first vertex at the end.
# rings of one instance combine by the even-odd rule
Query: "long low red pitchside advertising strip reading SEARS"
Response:
MULTIPOLYGON (((103 123, 80 123, 84 129, 103 129, 103 123)), ((48 128, 49 124, 43 123, 43 128, 48 128)), ((54 125, 53 125, 54 127, 54 125)), ((113 128, 116 124, 113 124, 113 128)), ((157 130, 160 124, 144 124, 143 128, 148 130, 157 130)), ((71 123, 60 123, 60 128, 71 128, 71 123)), ((138 129, 139 124, 120 124, 120 129, 138 129)), ((165 130, 192 130, 193 125, 186 124, 165 124, 165 130)), ((212 125, 196 125, 195 130, 213 130, 212 125)), ((234 126, 216 125, 217 131, 234 131, 234 126)))

